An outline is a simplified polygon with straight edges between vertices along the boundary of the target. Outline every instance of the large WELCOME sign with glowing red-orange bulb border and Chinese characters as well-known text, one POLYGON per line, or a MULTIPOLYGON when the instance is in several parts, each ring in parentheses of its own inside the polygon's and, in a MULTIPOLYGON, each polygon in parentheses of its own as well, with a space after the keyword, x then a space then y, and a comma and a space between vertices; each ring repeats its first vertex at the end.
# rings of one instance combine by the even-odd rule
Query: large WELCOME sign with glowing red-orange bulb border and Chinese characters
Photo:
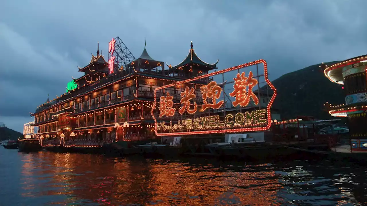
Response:
MULTIPOLYGON (((254 86, 258 84, 258 80, 254 78, 251 71, 237 73, 233 80, 233 90, 229 93, 229 96, 234 98, 233 107, 246 107, 251 101, 252 104, 259 104, 258 96, 252 91, 254 86)), ((225 90, 230 89, 226 88, 225 90)), ((164 85, 156 88, 154 93, 155 101, 151 114, 155 121, 155 133, 157 136, 175 136, 268 130, 271 125, 270 108, 275 97, 276 89, 268 79, 267 64, 263 59, 164 85), (224 102, 226 102, 222 89, 224 86, 215 81, 203 85, 200 82, 201 79, 208 80, 209 77, 218 74, 223 75, 229 71, 239 71, 239 69, 258 64, 263 64, 265 82, 274 91, 266 109, 251 111, 241 109, 237 113, 208 112, 210 108, 214 110, 224 109, 224 102), (167 92, 171 88, 178 88, 179 85, 184 84, 186 87, 182 87, 180 94, 174 95, 175 98, 180 99, 175 99, 171 95, 172 93, 167 92), (157 96, 159 97, 159 107, 157 106, 157 96), (220 100, 221 96, 223 100, 220 100)))

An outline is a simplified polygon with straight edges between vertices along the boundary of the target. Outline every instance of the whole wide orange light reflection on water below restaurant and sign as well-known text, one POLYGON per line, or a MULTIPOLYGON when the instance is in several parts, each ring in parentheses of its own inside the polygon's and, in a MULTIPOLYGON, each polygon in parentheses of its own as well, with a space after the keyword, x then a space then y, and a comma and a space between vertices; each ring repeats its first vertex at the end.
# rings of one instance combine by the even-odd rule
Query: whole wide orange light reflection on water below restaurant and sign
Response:
POLYGON ((23 164, 26 176, 38 181, 31 193, 65 195, 63 201, 54 202, 59 204, 277 205, 279 201, 276 192, 281 186, 275 172, 258 171, 255 166, 233 171, 210 163, 53 152, 35 155, 29 160, 32 163, 23 164))

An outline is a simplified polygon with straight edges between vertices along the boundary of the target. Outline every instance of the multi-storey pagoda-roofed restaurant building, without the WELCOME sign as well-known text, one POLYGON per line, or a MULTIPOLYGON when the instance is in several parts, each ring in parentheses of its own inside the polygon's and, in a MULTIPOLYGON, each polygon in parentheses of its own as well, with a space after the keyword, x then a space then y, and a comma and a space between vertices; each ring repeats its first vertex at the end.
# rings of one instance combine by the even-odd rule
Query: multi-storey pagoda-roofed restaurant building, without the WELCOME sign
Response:
MULTIPOLYGON (((144 48, 138 59, 118 68, 99 54, 92 55, 83 76, 73 78, 67 93, 37 107, 34 124, 43 146, 97 147, 114 141, 154 140, 152 119, 155 88, 172 82, 207 74, 216 64, 202 61, 191 43, 189 54, 178 65, 151 58, 144 48)), ((191 87, 212 81, 204 78, 191 87)), ((197 87, 199 88, 199 87, 197 87)), ((183 88, 184 89, 184 88, 183 88)), ((171 88, 175 104, 179 104, 182 88, 171 88)), ((199 92, 200 93, 200 92, 199 92)), ((200 94, 198 94, 200 96, 200 94)))

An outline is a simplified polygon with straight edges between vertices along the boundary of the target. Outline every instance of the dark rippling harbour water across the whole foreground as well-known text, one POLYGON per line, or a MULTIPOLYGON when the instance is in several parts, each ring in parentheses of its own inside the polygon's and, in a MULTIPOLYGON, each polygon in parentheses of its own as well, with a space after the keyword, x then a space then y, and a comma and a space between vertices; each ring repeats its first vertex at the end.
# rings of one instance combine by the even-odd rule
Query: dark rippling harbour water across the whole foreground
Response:
POLYGON ((0 148, 0 205, 365 205, 365 168, 328 161, 22 154, 0 148))

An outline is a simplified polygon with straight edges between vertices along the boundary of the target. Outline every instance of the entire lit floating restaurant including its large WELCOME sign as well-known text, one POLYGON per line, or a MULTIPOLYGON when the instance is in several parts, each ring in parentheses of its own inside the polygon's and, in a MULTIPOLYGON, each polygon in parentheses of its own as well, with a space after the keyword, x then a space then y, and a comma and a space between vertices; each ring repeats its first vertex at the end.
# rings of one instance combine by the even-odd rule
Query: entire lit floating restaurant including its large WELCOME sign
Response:
POLYGON ((226 133, 266 132, 280 119, 271 114, 276 89, 265 60, 217 71, 218 60, 204 62, 191 42, 182 62, 165 65, 145 47, 135 59, 119 37, 109 42, 108 55, 106 61, 98 46, 89 64, 78 67, 83 76, 31 113, 43 147, 142 144, 171 137, 210 144, 226 133), (250 66, 256 70, 240 71, 250 66))

